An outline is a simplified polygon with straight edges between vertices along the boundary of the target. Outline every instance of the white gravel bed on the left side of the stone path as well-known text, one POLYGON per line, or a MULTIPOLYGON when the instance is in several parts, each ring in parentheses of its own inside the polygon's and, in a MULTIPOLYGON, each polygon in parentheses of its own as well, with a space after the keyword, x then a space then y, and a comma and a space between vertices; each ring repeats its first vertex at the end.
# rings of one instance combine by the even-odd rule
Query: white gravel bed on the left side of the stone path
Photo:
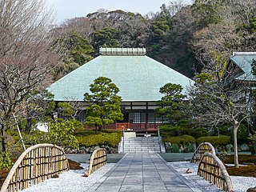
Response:
POLYGON ((69 170, 63 174, 59 174, 59 178, 50 178, 45 182, 41 182, 38 185, 30 186, 24 192, 70 192, 70 191, 86 191, 95 182, 98 182, 100 178, 106 172, 108 172, 113 166, 114 163, 108 163, 106 166, 102 166, 99 170, 96 170, 93 174, 90 174, 88 178, 82 177, 83 174, 88 170, 88 164, 81 163, 83 170, 69 170))

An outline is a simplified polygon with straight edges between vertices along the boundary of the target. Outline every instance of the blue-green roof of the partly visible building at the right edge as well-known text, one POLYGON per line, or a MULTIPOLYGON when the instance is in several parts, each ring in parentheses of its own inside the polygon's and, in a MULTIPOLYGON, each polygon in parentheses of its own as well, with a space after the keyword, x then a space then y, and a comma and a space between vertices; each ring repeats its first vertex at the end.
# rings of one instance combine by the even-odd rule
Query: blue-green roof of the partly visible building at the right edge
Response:
POLYGON ((235 79, 248 81, 256 80, 255 76, 251 74, 253 59, 256 60, 256 52, 234 52, 234 55, 230 57, 230 61, 238 65, 244 72, 235 79))

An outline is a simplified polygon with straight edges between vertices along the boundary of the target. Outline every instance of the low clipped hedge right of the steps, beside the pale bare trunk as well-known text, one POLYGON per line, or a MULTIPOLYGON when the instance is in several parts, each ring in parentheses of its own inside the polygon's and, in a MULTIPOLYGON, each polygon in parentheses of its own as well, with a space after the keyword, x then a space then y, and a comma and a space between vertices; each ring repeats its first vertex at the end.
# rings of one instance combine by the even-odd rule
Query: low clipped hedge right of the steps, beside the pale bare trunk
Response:
POLYGON ((209 136, 202 137, 197 139, 197 144, 202 142, 210 142, 212 145, 227 145, 230 143, 230 136, 227 135, 219 135, 219 136, 209 136))

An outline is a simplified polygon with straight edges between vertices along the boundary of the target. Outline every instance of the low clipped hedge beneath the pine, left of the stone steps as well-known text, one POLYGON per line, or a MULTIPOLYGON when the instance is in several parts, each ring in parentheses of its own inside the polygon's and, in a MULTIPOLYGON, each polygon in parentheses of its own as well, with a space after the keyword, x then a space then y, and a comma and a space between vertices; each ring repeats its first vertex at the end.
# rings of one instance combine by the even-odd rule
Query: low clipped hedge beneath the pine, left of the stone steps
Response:
POLYGON ((117 146, 121 142, 122 134, 112 133, 112 134, 92 134, 88 136, 78 137, 78 142, 80 146, 117 146))

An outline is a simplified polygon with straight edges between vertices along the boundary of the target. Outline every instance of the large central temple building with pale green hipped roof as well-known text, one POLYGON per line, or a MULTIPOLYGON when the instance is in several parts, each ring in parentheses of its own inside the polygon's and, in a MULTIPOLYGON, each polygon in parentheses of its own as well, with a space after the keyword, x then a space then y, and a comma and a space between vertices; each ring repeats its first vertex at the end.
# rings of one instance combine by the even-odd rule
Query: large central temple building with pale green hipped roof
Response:
MULTIPOLYGON (((95 78, 110 78, 122 96, 124 119, 105 128, 154 132, 161 121, 154 114, 156 101, 163 94, 160 87, 166 83, 180 84, 184 89, 194 82, 146 56, 145 48, 100 48, 99 56, 54 82, 48 90, 56 102, 79 102, 78 120, 86 121, 84 94, 90 93, 95 78)), ((86 127, 86 126, 85 126, 86 127)))

